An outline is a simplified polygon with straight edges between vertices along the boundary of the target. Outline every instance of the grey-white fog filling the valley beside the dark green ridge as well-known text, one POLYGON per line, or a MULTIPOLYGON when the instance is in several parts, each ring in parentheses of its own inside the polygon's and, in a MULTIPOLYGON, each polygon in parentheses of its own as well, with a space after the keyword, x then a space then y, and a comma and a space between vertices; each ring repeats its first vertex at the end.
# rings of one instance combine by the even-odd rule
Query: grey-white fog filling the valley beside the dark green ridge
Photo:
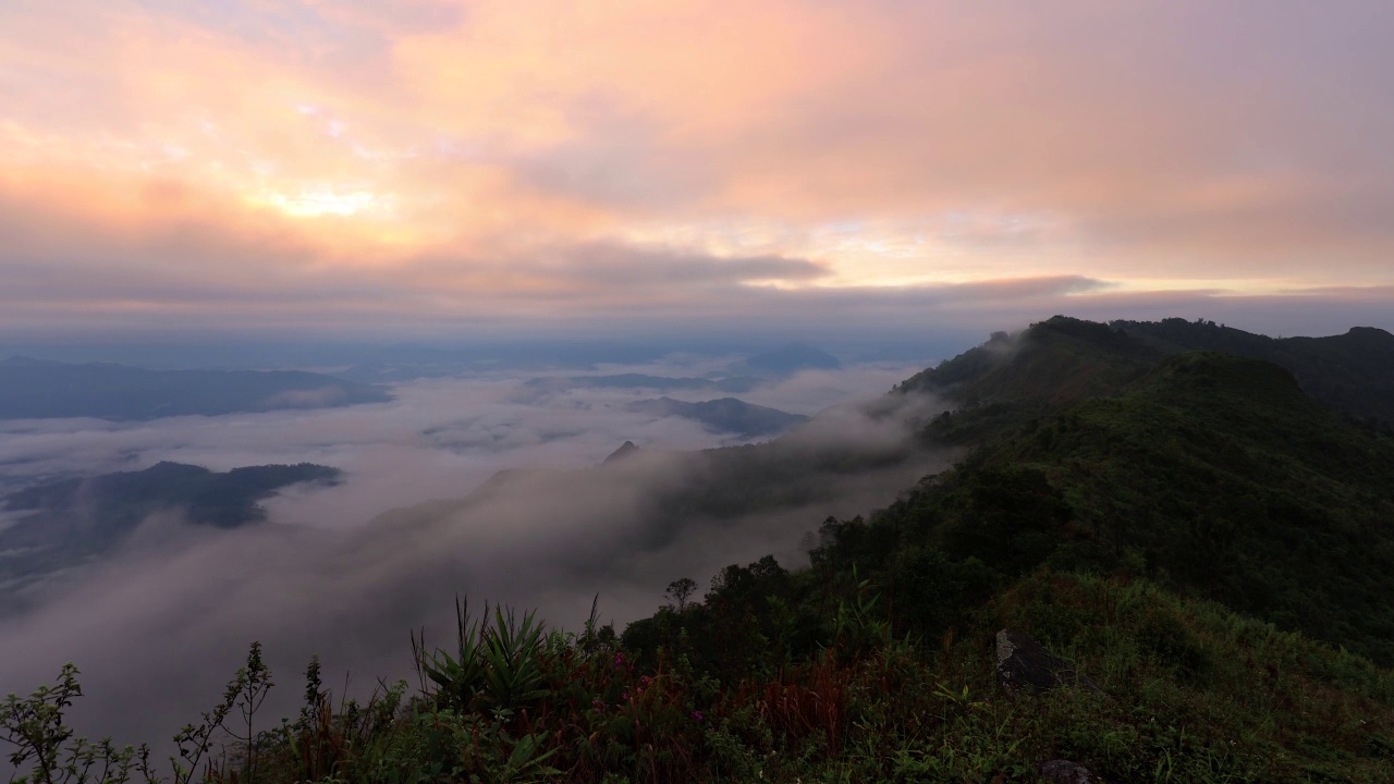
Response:
MULTIPOLYGON (((704 361, 592 372, 691 375, 704 361)), ((694 451, 736 437, 623 409, 655 391, 524 395, 527 377, 502 374, 415 381, 392 402, 344 409, 0 423, 0 481, 11 487, 159 460, 346 472, 337 487, 266 501, 266 525, 212 530, 183 523, 177 509, 153 515, 117 552, 31 586, 32 610, 0 621, 0 693, 28 693, 74 661, 79 732, 159 745, 216 702, 252 640, 279 684, 263 709, 269 725, 294 710, 312 654, 326 682, 342 686, 351 672, 360 696, 379 677, 408 677, 408 631, 447 644, 457 594, 477 607, 538 608, 569 629, 598 594, 602 619, 622 631, 652 612, 673 579, 705 586, 722 566, 765 554, 797 566, 800 540, 827 516, 884 506, 940 470, 948 455, 907 439, 935 403, 878 400, 921 367, 802 372, 740 395, 818 416, 729 453, 694 451), (640 452, 597 467, 625 441, 640 452), (825 469, 820 455, 834 453, 864 467, 825 469), (758 494, 735 488, 776 465, 785 473, 758 494), (517 470, 491 480, 505 469, 517 470)))

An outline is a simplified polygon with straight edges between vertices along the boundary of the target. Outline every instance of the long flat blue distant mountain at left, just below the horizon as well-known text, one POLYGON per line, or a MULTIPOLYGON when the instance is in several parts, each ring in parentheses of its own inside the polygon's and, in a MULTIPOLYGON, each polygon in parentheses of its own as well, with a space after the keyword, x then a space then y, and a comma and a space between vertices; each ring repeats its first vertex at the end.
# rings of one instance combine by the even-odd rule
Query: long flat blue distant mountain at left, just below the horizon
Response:
POLYGON ((151 420, 390 400, 385 386, 300 371, 142 370, 25 357, 0 361, 0 419, 151 420))

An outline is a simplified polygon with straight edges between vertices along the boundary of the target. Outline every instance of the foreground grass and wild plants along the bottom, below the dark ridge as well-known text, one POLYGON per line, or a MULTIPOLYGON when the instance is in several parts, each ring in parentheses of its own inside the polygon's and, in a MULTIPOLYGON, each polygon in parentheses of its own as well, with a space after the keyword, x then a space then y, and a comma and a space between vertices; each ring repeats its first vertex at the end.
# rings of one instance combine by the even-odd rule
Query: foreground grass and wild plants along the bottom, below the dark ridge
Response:
MULTIPOLYGON (((592 625, 569 635, 531 614, 487 618, 461 611, 473 653, 418 647, 421 688, 397 684, 362 706, 335 704, 312 665, 301 716, 251 735, 236 706, 255 695, 258 670, 244 668, 220 706, 231 706, 222 716, 238 718, 241 739, 205 721, 222 753, 173 778, 1005 783, 1039 781, 1040 763, 1071 759, 1108 781, 1394 780, 1394 674, 1146 580, 1040 569, 944 639, 829 636, 811 656, 737 682, 666 653, 636 667, 641 651, 592 625), (991 644, 1002 626, 1033 635, 1107 696, 1008 695, 991 644)), ((63 737, 75 677, 11 698, 0 737, 24 744, 24 704, 50 706, 46 737, 63 737)), ((38 762, 33 781, 100 780, 54 773, 63 755, 52 749, 77 741, 40 741, 47 756, 20 759, 38 762)), ((79 746, 98 749, 95 769, 110 757, 130 763, 130 780, 162 780, 135 770, 138 749, 79 746)))

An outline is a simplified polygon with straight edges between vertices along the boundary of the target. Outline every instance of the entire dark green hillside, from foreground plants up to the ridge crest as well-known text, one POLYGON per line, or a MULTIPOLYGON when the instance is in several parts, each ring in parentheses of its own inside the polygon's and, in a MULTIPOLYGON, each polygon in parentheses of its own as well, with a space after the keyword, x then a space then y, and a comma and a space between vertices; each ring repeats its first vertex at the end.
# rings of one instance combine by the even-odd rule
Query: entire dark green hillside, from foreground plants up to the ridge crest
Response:
MULTIPOLYGON (((967 458, 828 519, 809 568, 676 579, 623 633, 461 607, 456 644, 413 640, 413 686, 333 700, 312 664, 280 725, 241 710, 270 684, 252 646, 174 778, 1391 781, 1394 435, 1313 384, 1136 325, 997 335, 895 392, 951 400, 924 437, 967 458), (1098 691, 1004 689, 1004 628, 1098 691)), ((40 774, 75 744, 64 678, 0 714, 40 774)))

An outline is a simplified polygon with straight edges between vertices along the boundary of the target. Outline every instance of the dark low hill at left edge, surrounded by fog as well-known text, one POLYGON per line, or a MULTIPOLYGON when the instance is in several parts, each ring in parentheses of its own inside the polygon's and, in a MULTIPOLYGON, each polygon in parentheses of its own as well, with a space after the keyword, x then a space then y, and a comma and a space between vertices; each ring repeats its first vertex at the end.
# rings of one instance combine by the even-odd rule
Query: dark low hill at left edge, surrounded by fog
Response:
POLYGON ((258 506, 297 483, 335 484, 339 469, 248 466, 215 473, 162 462, 142 472, 118 472, 28 487, 0 497, 14 518, 0 529, 0 582, 72 565, 117 545, 149 515, 178 511, 195 526, 237 527, 265 519, 258 506))

